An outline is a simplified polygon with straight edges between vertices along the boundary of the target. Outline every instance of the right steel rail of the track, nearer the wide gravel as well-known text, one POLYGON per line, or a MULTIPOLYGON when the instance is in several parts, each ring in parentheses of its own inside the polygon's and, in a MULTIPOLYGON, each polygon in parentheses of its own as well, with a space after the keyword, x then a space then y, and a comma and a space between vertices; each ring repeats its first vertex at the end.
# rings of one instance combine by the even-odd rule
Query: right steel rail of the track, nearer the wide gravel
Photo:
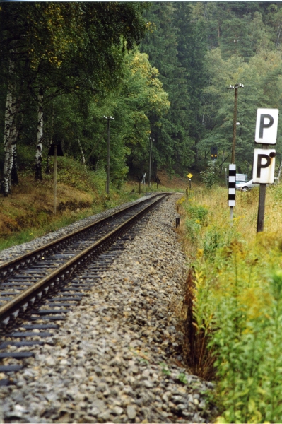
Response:
MULTIPOLYGON (((32 287, 23 290, 19 295, 16 295, 15 298, 0 307, 0 324, 2 326, 3 324, 4 326, 6 326, 8 322, 4 323, 4 321, 10 319, 12 314, 14 314, 13 321, 15 321, 19 313, 25 314, 25 312, 30 310, 30 308, 34 308, 36 302, 40 302, 40 300, 43 300, 47 297, 47 294, 49 294, 50 285, 52 285, 53 283, 54 285, 60 285, 60 280, 64 281, 65 274, 68 274, 67 276, 70 276, 76 268, 79 268, 80 266, 82 266, 82 264, 86 264, 86 261, 89 261, 90 259, 95 257, 95 255, 98 255, 102 251, 107 249, 110 243, 117 240, 119 235, 121 235, 129 227, 131 227, 136 220, 141 218, 141 216, 143 216, 145 213, 148 213, 148 211, 153 208, 153 206, 162 201, 165 196, 168 196, 168 193, 165 193, 163 196, 160 197, 160 199, 157 199, 152 204, 149 204, 141 211, 137 212, 134 216, 131 216, 131 218, 124 221, 124 223, 119 225, 117 228, 114 228, 114 230, 110 231, 107 235, 101 237, 100 240, 93 243, 93 245, 87 247, 85 250, 78 253, 75 257, 69 259, 69 261, 59 266, 58 269, 52 271, 52 273, 49 273, 48 276, 41 278, 40 281, 37 281, 37 283, 35 283, 32 287), (43 290, 45 290, 46 288, 47 291, 42 297, 43 290)), ((55 287, 53 287, 52 289, 54 288, 55 287)))

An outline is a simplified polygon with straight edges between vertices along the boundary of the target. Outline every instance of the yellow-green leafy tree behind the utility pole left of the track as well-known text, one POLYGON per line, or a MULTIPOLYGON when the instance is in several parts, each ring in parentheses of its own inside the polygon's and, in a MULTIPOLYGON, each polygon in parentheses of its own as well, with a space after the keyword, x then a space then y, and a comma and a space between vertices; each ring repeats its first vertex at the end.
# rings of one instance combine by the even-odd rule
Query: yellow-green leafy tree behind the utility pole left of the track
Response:
MULTIPOLYGON (((124 55, 122 83, 104 97, 88 94, 80 98, 75 94, 54 99, 47 107, 45 134, 50 140, 64 141, 64 152, 84 160, 94 170, 107 163, 107 119, 110 122, 110 178, 119 185, 128 168, 148 167, 148 136, 154 113, 160 117, 168 112, 170 102, 158 70, 148 61, 148 55, 134 49, 124 55), (83 155, 82 155, 83 151, 83 155)), ((136 172, 136 171, 135 171, 136 172)))

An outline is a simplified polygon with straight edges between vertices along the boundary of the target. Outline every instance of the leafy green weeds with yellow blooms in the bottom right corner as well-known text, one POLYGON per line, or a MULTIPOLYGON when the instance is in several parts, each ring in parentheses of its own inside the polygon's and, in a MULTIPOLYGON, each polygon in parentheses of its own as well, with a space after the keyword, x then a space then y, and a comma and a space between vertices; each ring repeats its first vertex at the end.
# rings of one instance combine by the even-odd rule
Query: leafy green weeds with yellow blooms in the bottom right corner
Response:
POLYGON ((218 305, 215 319, 221 328, 211 346, 216 348, 225 422, 281 421, 281 287, 281 271, 273 271, 266 287, 243 288, 252 303, 242 302, 242 292, 233 290, 218 305))

